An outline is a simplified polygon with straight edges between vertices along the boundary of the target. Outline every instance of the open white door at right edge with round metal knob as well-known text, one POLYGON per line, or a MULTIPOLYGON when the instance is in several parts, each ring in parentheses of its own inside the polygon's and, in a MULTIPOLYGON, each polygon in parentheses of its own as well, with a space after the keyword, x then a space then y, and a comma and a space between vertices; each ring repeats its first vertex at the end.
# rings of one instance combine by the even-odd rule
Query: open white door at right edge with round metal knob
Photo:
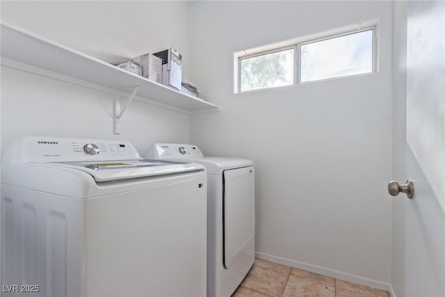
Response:
POLYGON ((407 5, 405 296, 444 297, 445 1, 407 5))

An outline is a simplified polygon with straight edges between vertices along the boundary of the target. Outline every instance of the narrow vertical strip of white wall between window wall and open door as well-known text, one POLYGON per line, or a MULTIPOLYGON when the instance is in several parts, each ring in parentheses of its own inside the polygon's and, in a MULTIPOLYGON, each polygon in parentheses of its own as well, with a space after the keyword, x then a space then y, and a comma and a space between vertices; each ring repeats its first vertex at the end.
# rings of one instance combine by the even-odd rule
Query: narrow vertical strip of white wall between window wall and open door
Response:
MULTIPOLYGON (((407 2, 394 1, 393 19, 393 168, 391 179, 405 183, 407 2)), ((391 286, 405 296, 405 195, 392 198, 391 286)))

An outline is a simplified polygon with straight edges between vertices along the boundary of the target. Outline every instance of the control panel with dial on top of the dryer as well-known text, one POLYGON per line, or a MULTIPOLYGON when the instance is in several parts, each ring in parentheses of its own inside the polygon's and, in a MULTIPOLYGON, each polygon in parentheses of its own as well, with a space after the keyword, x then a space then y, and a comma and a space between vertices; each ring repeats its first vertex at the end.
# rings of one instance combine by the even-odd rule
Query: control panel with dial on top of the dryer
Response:
POLYGON ((204 155, 197 145, 179 143, 155 143, 151 152, 156 159, 202 158, 204 155))

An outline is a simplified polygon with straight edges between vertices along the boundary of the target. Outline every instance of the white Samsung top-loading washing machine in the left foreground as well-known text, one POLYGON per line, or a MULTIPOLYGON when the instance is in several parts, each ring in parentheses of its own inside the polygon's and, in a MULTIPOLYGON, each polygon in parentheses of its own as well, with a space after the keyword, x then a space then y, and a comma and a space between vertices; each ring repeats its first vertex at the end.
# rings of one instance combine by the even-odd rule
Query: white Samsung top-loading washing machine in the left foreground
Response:
POLYGON ((1 163, 2 296, 206 296, 206 224, 200 164, 22 138, 1 163))

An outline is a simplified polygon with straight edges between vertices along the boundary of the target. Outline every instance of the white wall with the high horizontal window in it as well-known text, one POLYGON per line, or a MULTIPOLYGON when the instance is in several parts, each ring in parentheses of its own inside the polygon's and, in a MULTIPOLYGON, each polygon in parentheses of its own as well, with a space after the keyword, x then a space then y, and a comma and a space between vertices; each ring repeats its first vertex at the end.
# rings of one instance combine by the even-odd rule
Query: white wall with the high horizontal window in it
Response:
POLYGON ((200 1, 189 22, 191 79, 223 109, 191 143, 255 161, 257 255, 388 289, 392 3, 200 1), (234 52, 369 19, 378 73, 234 95, 234 52))

